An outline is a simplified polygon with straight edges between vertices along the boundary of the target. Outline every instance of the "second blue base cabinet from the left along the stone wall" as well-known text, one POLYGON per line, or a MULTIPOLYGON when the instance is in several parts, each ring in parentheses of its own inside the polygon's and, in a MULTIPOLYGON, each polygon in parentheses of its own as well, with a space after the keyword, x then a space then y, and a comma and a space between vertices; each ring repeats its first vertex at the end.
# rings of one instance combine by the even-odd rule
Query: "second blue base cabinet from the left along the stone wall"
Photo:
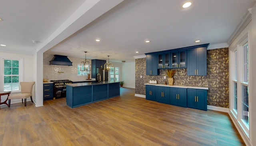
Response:
POLYGON ((170 104, 170 87, 157 87, 157 102, 170 104))

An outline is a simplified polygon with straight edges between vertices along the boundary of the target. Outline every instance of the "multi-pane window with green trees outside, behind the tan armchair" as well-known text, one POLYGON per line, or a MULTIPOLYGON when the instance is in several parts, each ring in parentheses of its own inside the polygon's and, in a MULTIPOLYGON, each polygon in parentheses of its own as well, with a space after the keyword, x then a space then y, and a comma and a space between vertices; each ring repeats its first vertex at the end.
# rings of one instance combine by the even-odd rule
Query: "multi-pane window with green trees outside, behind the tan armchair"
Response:
POLYGON ((21 60, 3 58, 3 88, 4 91, 20 91, 21 81, 21 60))

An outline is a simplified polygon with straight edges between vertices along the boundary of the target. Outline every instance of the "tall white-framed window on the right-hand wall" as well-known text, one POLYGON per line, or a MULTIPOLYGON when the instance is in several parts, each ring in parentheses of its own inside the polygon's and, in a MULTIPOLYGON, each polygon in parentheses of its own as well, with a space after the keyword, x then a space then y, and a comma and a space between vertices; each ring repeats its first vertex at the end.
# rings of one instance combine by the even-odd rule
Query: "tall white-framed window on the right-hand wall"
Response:
MULTIPOLYGON (((248 35, 248 34, 247 34, 248 35)), ((247 35, 243 37, 240 44, 232 51, 230 56, 232 75, 232 95, 230 98, 231 113, 236 118, 237 122, 249 137, 250 131, 250 107, 249 107, 249 74, 248 74, 248 51, 249 43, 247 35)))

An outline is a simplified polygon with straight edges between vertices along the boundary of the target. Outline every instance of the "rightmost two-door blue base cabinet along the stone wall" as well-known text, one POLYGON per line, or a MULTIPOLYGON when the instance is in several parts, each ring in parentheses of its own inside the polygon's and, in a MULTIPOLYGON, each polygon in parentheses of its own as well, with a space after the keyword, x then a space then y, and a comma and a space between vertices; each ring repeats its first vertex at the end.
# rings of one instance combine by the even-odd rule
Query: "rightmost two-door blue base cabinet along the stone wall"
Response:
POLYGON ((188 88, 188 108, 207 110, 207 90, 188 88))

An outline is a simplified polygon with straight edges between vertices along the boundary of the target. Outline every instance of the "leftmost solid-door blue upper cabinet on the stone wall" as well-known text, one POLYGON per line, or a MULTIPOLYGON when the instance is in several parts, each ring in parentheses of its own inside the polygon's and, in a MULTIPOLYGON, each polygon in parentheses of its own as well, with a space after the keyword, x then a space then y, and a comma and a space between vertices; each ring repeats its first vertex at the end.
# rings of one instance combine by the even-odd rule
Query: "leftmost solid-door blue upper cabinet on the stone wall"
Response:
POLYGON ((159 75, 157 54, 146 55, 146 75, 159 75))

